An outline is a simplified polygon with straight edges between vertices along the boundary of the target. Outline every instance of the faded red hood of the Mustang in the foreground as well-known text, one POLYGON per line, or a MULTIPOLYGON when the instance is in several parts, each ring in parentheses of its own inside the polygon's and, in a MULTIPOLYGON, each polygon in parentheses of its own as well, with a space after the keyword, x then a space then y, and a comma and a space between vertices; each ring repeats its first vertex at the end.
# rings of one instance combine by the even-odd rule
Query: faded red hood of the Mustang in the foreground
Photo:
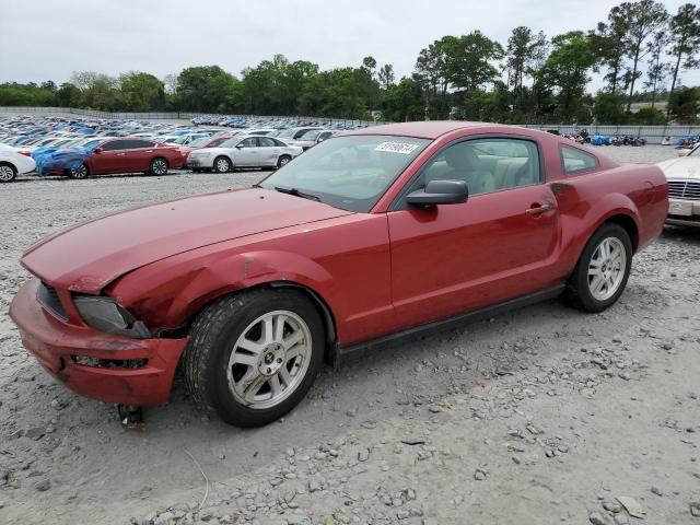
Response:
POLYGON ((350 213, 261 188, 201 195, 65 230, 32 246, 22 265, 50 285, 98 293, 131 270, 183 252, 350 213))

